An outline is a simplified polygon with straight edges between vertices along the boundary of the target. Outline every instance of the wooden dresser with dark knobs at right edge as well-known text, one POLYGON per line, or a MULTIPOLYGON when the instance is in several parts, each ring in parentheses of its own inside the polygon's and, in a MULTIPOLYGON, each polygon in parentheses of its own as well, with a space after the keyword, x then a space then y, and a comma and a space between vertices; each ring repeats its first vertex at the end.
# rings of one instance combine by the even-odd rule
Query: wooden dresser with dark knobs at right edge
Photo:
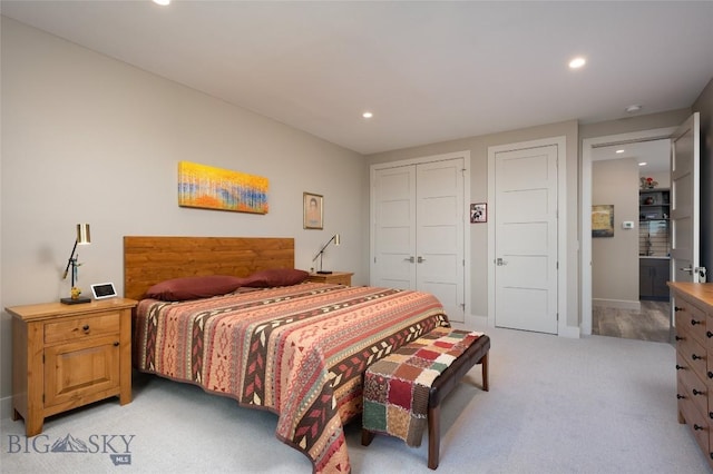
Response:
POLYGON ((676 318, 678 422, 713 467, 713 284, 670 283, 676 318))

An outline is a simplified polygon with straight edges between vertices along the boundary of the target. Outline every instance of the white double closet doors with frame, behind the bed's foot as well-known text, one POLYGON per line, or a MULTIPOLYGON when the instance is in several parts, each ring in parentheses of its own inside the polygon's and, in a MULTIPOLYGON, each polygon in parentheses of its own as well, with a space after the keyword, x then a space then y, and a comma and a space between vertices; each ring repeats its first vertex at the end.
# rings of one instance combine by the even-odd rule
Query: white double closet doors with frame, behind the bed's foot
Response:
POLYGON ((431 293, 465 322, 463 158, 377 169, 371 284, 431 293))

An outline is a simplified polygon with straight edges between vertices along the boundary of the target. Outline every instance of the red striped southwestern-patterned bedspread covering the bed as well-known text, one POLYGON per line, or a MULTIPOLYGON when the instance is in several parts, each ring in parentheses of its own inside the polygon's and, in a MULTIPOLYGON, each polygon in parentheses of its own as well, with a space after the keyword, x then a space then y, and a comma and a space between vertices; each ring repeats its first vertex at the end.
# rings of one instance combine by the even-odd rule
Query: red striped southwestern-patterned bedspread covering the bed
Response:
POLYGON ((276 435, 314 472, 350 472, 342 426, 370 364, 447 327, 426 293, 306 283, 183 303, 141 300, 134 363, 279 415, 276 435))

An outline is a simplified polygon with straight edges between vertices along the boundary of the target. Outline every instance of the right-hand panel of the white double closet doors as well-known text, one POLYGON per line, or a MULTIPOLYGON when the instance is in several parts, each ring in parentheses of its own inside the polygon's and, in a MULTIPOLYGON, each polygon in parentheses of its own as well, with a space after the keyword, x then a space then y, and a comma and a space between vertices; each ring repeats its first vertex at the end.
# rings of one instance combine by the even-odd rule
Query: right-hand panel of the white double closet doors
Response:
POLYGON ((463 160, 417 166, 417 288, 465 322, 463 160))

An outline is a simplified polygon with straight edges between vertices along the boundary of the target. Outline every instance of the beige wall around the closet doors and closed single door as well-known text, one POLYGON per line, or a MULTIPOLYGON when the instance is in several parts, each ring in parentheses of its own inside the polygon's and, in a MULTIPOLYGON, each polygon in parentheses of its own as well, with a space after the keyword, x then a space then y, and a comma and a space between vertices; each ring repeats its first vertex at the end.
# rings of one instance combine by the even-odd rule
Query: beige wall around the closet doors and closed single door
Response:
MULTIPOLYGON (((568 326, 578 326, 578 251, 577 251, 577 195, 578 195, 578 137, 577 121, 569 120, 521 130, 470 137, 460 140, 445 141, 421 147, 370 155, 370 164, 398 161, 453 151, 470 151, 470 198, 472 203, 488 200, 488 147, 521 141, 538 140, 550 137, 566 137, 567 170, 567 308, 564 312, 568 326)), ((470 314, 476 317, 488 315, 488 227, 491 223, 470 225, 470 314)), ((468 318, 468 315, 466 315, 468 318)), ((467 319, 468 322, 468 319, 467 319)))

